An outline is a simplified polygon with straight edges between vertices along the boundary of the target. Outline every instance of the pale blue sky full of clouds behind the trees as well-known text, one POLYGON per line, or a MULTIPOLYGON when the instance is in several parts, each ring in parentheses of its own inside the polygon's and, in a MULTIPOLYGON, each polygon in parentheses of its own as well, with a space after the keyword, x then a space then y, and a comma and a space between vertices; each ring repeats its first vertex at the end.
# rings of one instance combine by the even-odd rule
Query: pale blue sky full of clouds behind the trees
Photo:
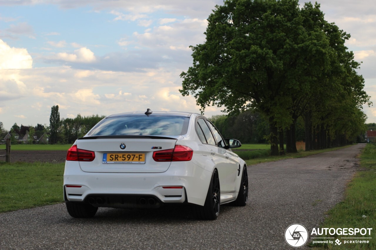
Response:
MULTIPOLYGON (((192 64, 189 46, 205 41, 206 18, 222 3, 0 0, 0 121, 7 130, 49 125, 53 105, 65 118, 147 108, 198 113, 195 99, 180 95, 179 75, 192 64)), ((346 45, 363 62, 359 73, 376 105, 374 1, 325 0, 321 10, 351 34, 346 45)), ((364 111, 376 122, 374 107, 364 111)), ((213 114, 220 108, 206 109, 213 114)))

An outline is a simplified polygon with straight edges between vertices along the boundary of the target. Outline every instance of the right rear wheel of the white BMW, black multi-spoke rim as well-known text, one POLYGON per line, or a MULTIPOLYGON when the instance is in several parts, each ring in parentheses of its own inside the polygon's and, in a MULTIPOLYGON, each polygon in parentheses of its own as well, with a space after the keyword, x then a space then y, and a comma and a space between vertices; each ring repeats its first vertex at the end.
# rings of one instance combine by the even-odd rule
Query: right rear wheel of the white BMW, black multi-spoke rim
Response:
POLYGON ((194 213, 199 220, 215 220, 218 217, 221 206, 221 190, 218 171, 213 171, 208 193, 203 206, 194 206, 194 213))

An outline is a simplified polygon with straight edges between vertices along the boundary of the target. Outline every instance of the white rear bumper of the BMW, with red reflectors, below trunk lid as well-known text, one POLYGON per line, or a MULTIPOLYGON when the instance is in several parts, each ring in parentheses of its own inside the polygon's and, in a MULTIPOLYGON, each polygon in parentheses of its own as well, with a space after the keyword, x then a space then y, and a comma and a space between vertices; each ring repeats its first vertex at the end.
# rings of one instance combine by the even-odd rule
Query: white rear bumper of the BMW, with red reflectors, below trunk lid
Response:
POLYGON ((203 206, 210 179, 211 172, 192 162, 173 163, 163 173, 89 173, 67 161, 64 200, 115 208, 184 202, 203 206))

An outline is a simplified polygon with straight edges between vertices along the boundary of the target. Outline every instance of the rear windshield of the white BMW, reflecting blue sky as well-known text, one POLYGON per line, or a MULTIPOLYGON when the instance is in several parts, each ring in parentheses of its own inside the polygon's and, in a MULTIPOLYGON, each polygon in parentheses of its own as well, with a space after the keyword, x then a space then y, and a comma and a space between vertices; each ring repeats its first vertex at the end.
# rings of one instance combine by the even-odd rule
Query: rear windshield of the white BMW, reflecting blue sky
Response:
POLYGON ((189 117, 120 116, 100 121, 88 136, 181 136, 187 133, 189 117))

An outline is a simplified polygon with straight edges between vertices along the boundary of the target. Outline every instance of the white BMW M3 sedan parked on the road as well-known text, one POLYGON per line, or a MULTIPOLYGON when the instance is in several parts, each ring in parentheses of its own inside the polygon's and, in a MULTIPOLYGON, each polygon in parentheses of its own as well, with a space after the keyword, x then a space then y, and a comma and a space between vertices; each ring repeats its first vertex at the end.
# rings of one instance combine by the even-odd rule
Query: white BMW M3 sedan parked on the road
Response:
POLYGON ((240 146, 196 113, 148 109, 110 115, 67 152, 68 213, 92 217, 99 207, 186 203, 197 218, 214 220, 221 204, 247 203, 246 163, 231 150, 240 146))

